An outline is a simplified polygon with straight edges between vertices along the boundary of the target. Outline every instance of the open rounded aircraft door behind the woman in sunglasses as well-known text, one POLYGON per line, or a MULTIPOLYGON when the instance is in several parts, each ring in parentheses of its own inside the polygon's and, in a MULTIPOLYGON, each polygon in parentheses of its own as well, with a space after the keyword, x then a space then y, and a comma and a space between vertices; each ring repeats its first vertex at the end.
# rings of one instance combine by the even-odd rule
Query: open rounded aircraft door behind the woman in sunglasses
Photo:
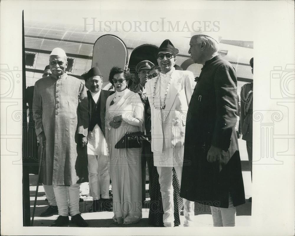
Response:
POLYGON ((103 87, 109 83, 109 73, 112 67, 126 69, 128 51, 125 43, 115 35, 102 35, 93 46, 92 67, 99 67, 104 78, 103 87))

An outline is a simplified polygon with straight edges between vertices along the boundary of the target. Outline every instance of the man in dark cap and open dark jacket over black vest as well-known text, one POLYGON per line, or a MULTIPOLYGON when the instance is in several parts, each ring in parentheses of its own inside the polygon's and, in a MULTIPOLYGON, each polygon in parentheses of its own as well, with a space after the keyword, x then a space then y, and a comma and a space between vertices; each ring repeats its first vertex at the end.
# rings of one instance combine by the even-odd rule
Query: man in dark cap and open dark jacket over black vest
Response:
POLYGON ((110 176, 107 168, 107 145, 104 116, 106 99, 113 91, 102 90, 103 78, 98 67, 91 68, 82 77, 85 79, 89 106, 88 128, 88 178, 90 195, 93 197, 90 211, 112 211, 109 200, 110 176))

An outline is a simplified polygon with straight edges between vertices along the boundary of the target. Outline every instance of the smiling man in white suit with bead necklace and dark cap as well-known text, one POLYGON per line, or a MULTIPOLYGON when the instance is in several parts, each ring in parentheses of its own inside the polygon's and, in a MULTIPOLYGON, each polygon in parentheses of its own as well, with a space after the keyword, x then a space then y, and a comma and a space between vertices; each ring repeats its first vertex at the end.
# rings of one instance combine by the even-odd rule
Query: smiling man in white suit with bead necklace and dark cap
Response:
MULTIPOLYGON (((173 168, 181 182, 185 120, 194 86, 192 72, 173 67, 177 54, 178 49, 170 40, 163 41, 158 50, 161 72, 145 84, 151 108, 151 148, 159 174, 165 227, 174 226, 174 211, 180 210, 174 209, 173 168)), ((193 209, 193 202, 184 202, 184 226, 189 225, 193 209)))

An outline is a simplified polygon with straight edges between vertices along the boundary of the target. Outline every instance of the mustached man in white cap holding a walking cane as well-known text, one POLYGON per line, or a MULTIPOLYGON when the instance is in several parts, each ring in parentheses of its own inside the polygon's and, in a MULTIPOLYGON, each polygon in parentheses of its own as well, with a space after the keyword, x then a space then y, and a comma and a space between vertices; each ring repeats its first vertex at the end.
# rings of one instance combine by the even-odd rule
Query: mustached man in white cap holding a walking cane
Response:
POLYGON ((80 183, 88 182, 86 144, 88 99, 83 80, 69 76, 67 55, 55 48, 49 57, 52 75, 35 83, 33 117, 37 140, 45 148, 43 183, 53 185, 58 219, 50 226, 71 221, 88 226, 79 212, 80 183))

